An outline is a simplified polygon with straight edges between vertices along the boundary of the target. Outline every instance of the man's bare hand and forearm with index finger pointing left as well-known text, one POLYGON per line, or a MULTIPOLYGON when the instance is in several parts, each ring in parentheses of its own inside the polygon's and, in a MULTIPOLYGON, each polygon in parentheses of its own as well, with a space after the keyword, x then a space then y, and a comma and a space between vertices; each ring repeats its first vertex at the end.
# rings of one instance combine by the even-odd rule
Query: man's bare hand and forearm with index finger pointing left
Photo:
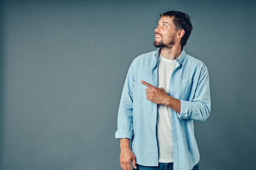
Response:
POLYGON ((142 80, 140 82, 148 87, 146 88, 146 99, 155 104, 163 104, 168 106, 169 108, 175 110, 177 113, 180 113, 181 104, 179 99, 175 99, 174 97, 169 96, 162 87, 157 88, 142 80))

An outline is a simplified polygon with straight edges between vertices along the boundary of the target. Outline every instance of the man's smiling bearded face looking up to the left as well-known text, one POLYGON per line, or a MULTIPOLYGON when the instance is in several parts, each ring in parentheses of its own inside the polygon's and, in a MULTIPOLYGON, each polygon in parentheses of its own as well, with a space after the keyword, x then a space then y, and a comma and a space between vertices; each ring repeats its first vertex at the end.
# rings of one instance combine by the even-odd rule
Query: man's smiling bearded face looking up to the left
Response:
POLYGON ((162 17, 157 25, 154 46, 161 49, 170 49, 175 44, 177 35, 173 19, 162 17))

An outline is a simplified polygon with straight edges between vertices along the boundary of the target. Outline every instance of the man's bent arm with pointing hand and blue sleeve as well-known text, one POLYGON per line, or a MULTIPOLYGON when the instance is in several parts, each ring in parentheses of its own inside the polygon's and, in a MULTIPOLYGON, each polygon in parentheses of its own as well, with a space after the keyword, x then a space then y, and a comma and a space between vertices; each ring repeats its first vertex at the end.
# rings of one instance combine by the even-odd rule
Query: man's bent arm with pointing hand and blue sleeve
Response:
POLYGON ((148 87, 146 89, 146 98, 149 101, 155 104, 166 105, 175 110, 178 113, 179 119, 205 121, 210 114, 211 99, 207 70, 200 76, 193 102, 171 97, 164 91, 164 88, 157 88, 144 81, 141 81, 141 83, 148 87))

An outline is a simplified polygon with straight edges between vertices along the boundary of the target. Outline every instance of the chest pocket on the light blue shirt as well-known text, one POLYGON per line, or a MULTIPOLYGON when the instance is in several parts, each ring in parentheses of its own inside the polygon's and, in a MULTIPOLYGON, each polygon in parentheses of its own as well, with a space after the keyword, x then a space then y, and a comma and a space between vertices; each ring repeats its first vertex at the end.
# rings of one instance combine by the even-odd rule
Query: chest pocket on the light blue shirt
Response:
POLYGON ((174 88, 173 88, 173 97, 176 99, 182 99, 189 101, 191 98, 191 91, 193 88, 193 80, 192 79, 179 79, 175 80, 174 88))

